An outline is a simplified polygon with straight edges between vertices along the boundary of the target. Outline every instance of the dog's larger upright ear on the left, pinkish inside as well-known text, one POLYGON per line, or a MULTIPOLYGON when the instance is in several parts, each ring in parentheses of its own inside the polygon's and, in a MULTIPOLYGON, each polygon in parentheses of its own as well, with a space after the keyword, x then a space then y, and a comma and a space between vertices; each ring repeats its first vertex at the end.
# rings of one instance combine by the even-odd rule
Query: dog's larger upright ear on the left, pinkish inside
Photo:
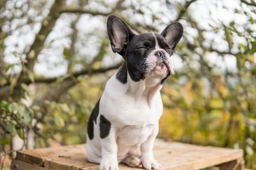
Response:
POLYGON ((132 36, 134 36, 134 33, 121 18, 116 17, 115 15, 110 15, 108 17, 107 28, 113 52, 117 52, 125 57, 127 44, 132 36))

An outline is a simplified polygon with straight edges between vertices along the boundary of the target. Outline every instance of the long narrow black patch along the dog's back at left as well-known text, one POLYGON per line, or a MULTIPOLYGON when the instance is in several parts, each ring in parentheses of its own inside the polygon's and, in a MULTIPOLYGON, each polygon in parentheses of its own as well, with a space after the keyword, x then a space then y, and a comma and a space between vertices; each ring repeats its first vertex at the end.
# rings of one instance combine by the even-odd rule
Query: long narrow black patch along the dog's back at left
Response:
POLYGON ((100 99, 95 105, 95 107, 93 108, 87 124, 87 133, 91 140, 93 139, 93 121, 95 122, 95 124, 97 123, 97 117, 99 115, 99 105, 100 105, 100 99))

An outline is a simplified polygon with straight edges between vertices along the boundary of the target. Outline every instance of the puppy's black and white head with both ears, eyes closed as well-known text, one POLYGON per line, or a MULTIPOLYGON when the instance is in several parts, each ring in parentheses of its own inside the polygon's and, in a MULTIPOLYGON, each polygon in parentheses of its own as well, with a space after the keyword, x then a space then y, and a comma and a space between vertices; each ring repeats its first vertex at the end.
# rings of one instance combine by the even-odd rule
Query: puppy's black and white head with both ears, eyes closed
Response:
POLYGON ((163 83, 173 74, 170 57, 183 33, 179 22, 168 25, 161 34, 134 34, 121 18, 110 15, 107 27, 111 48, 125 59, 123 67, 133 81, 157 77, 163 83))

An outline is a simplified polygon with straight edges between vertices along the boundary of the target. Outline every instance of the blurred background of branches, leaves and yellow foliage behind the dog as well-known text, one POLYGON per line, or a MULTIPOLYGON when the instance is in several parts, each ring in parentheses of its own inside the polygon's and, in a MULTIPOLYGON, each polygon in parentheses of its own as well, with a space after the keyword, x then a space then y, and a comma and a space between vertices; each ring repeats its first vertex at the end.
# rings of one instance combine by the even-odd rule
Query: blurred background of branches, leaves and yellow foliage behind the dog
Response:
POLYGON ((256 168, 255 0, 0 1, 0 169, 13 151, 86 142, 86 122, 122 62, 110 14, 134 32, 179 21, 159 138, 241 148, 256 168))

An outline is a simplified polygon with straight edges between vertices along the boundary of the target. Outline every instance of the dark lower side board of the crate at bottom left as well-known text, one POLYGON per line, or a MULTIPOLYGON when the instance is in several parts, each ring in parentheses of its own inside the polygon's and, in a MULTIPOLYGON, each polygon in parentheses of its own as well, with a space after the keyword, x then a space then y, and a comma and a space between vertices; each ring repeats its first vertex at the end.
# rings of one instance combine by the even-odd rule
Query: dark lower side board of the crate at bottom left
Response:
POLYGON ((12 160, 11 170, 45 170, 44 167, 33 166, 20 160, 12 160))

